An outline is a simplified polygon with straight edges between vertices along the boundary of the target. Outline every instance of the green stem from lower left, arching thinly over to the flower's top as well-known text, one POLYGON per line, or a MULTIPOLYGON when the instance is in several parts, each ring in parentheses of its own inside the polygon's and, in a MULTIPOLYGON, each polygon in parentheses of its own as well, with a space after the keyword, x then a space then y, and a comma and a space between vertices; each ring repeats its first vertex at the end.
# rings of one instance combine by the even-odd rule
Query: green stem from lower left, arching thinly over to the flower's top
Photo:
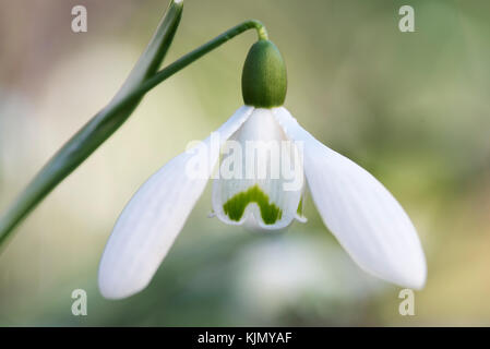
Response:
MULTIPOLYGON (((174 3, 172 3, 174 5, 174 3)), ((171 8, 170 8, 171 9, 171 8)), ((180 13, 178 15, 180 20, 180 13)), ((177 24, 178 24, 177 20, 177 24)), ((169 31, 170 40, 176 26, 169 31)), ((0 245, 16 225, 43 201, 64 178, 80 166, 100 144, 103 144, 129 118, 141 98, 153 87, 164 82, 178 71, 188 67, 218 46, 237 35, 256 29, 259 39, 267 39, 267 32, 259 21, 247 21, 226 31, 203 46, 181 57, 159 72, 145 77, 140 84, 127 87, 84 125, 37 173, 27 188, 0 218, 0 245), (129 112, 126 112, 128 111, 129 112)), ((163 55, 164 56, 164 55, 163 55)), ((163 58, 163 57, 162 57, 163 58)), ((154 67, 154 64, 152 64, 154 67)))

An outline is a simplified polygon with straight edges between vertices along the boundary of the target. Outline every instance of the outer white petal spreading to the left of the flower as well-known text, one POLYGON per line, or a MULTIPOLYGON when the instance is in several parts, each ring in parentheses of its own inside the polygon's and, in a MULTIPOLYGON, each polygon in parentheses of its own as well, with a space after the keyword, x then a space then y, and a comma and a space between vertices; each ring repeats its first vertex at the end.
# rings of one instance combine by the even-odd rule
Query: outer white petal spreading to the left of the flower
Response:
MULTIPOLYGON (((223 144, 253 111, 241 107, 219 129, 223 144)), ((211 137, 204 141, 210 146, 211 137)), ((152 279, 195 202, 201 196, 218 154, 182 153, 153 174, 121 213, 107 242, 98 272, 104 297, 120 299, 141 291, 152 279), (190 159, 210 160, 200 177, 186 172, 190 159)))

